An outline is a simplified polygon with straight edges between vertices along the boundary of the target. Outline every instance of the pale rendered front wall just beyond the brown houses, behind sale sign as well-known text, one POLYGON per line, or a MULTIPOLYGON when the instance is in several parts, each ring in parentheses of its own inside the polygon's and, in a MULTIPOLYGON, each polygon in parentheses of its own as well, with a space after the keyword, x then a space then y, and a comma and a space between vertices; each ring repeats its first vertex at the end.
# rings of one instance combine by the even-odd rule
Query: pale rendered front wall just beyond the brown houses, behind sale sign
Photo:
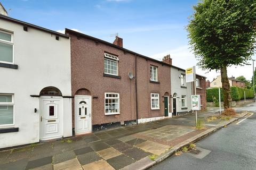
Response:
MULTIPOLYGON (((176 99, 177 112, 188 112, 188 111, 191 111, 191 95, 192 95, 191 82, 187 83, 187 88, 181 88, 181 83, 180 83, 181 73, 185 74, 185 71, 178 70, 176 68, 171 67, 171 92, 172 92, 172 96, 174 93, 177 94, 177 99, 176 99), (187 97, 187 109, 181 109, 181 95, 186 95, 187 97)), ((173 106, 171 111, 173 113, 173 106)))

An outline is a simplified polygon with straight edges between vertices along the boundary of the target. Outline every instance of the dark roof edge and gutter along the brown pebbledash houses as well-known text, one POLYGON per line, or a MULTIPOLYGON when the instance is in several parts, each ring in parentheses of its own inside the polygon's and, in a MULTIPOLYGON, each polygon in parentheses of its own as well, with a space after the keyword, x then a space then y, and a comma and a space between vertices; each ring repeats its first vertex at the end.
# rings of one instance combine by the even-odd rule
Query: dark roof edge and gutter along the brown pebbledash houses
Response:
POLYGON ((91 36, 85 35, 84 33, 81 33, 81 32, 77 32, 77 31, 70 30, 70 29, 66 28, 66 29, 65 29, 65 33, 67 33, 67 32, 73 33, 73 34, 75 34, 75 35, 79 35, 79 36, 82 36, 82 37, 85 37, 85 38, 87 38, 87 39, 91 39, 91 40, 97 41, 97 42, 102 43, 102 44, 109 45, 109 46, 114 47, 114 48, 117 48, 117 49, 121 49, 121 50, 123 50, 124 52, 127 52, 127 53, 131 53, 131 54, 138 55, 138 56, 140 56, 140 57, 142 57, 142 58, 145 58, 146 60, 151 60, 151 61, 154 61, 154 62, 156 62, 156 63, 160 63, 160 64, 167 65, 167 66, 171 66, 170 64, 167 64, 167 63, 164 63, 164 62, 155 60, 154 58, 150 58, 150 57, 147 57, 147 56, 145 56, 145 55, 141 55, 141 54, 135 53, 135 52, 133 52, 133 51, 131 51, 131 50, 129 50, 129 49, 126 49, 126 48, 123 48, 123 47, 119 47, 119 46, 117 46, 117 45, 115 45, 115 44, 109 43, 109 42, 104 41, 104 40, 102 40, 102 39, 98 39, 98 38, 95 38, 95 37, 91 37, 91 36))

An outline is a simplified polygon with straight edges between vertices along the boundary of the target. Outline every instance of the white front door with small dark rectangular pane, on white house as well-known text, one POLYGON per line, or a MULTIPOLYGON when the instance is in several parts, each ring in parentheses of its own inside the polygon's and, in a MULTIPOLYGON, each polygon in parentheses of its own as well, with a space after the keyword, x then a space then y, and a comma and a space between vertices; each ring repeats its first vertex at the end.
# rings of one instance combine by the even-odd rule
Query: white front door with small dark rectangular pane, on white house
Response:
POLYGON ((62 98, 42 96, 40 101, 41 140, 61 138, 62 98))

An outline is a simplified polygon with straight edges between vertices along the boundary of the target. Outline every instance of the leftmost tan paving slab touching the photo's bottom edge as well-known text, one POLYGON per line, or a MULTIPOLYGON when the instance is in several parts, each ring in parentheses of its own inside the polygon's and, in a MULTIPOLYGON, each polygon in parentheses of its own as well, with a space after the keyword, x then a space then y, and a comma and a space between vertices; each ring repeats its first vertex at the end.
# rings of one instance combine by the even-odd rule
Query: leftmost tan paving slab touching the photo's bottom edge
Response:
POLYGON ((67 160, 59 164, 55 164, 53 165, 53 169, 54 170, 64 170, 64 169, 65 170, 83 170, 76 158, 67 160))

